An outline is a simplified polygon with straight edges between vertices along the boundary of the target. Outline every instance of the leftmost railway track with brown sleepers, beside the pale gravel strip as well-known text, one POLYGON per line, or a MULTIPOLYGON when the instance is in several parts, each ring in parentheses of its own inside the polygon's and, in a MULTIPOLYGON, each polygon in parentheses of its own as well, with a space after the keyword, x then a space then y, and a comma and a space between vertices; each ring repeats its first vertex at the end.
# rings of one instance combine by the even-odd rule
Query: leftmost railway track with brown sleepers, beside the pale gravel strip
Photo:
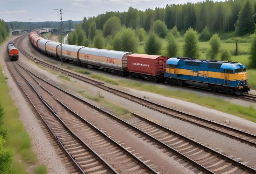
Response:
POLYGON ((85 167, 82 164, 90 164, 92 161, 97 161, 98 164, 96 166, 99 167, 97 170, 98 172, 117 173, 99 156, 99 154, 93 151, 86 143, 76 136, 63 121, 61 121, 53 108, 41 97, 33 85, 25 79, 23 74, 16 69, 12 62, 6 61, 6 65, 16 84, 26 96, 27 100, 34 108, 34 111, 39 115, 49 133, 62 149, 63 153, 59 153, 59 155, 62 160, 65 161, 65 165, 69 172, 85 173, 88 167, 85 167), (78 153, 73 149, 78 147, 80 148, 81 153, 78 153), (73 167, 76 169, 74 170, 73 167))

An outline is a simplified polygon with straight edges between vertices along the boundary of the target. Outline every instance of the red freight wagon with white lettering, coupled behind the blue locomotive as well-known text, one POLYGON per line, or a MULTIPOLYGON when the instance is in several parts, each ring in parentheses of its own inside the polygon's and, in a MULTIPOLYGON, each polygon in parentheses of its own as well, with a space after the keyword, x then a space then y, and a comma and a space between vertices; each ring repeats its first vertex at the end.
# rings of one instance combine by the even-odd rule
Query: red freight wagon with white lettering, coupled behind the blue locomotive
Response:
POLYGON ((147 77, 157 81, 166 71, 167 59, 162 55, 131 54, 127 57, 127 71, 134 78, 147 77))

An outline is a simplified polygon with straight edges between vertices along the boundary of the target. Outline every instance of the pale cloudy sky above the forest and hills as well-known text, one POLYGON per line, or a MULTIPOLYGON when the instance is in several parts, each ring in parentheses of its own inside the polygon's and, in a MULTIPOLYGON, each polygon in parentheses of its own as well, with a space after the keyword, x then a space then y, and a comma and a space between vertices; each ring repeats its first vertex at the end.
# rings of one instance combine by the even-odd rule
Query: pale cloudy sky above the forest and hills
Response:
POLYGON ((0 19, 4 21, 41 22, 59 21, 54 9, 65 9, 62 20, 81 21, 83 17, 97 16, 110 11, 127 11, 165 7, 166 4, 197 2, 199 0, 0 0, 0 19))

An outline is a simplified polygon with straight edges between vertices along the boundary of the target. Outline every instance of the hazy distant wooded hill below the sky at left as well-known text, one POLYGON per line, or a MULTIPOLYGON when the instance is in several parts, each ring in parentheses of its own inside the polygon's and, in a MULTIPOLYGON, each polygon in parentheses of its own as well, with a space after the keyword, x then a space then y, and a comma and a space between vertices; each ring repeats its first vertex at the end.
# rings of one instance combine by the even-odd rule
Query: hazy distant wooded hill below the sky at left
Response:
MULTIPOLYGON (((82 21, 62 21, 63 29, 70 30, 75 28, 75 24, 79 24, 82 21)), ((29 22, 6 22, 6 24, 9 26, 10 29, 13 30, 23 30, 23 29, 29 29, 29 22)), ((31 29, 40 29, 40 28, 60 28, 60 21, 45 21, 45 22, 31 22, 31 29)))

